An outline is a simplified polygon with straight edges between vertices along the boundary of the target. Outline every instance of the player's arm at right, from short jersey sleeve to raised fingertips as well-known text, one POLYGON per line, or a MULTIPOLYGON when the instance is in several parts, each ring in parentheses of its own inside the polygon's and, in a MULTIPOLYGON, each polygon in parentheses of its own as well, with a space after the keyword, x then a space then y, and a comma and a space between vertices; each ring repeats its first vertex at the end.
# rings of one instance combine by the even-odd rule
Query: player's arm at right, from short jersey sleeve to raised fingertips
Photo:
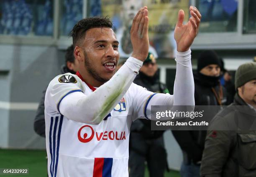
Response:
POLYGON ((190 14, 187 24, 183 24, 184 11, 179 10, 177 25, 174 30, 174 39, 177 42, 177 68, 174 82, 174 95, 153 94, 140 89, 137 96, 136 116, 151 119, 151 105, 195 105, 194 98, 194 79, 191 65, 190 46, 194 41, 199 25, 201 15, 196 7, 189 7, 190 14), (143 101, 142 101, 143 100, 143 101))

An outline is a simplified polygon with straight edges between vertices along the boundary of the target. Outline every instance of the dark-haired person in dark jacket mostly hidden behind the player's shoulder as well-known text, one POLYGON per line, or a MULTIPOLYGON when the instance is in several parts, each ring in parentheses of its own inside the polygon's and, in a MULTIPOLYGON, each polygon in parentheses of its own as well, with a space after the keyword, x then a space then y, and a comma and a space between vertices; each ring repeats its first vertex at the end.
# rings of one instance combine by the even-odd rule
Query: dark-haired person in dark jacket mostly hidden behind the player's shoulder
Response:
MULTIPOLYGON (((67 72, 75 74, 78 71, 78 61, 75 60, 73 52, 74 52, 74 47, 73 45, 71 45, 67 48, 66 55, 65 55, 66 65, 61 66, 60 74, 64 74, 67 72)), ((41 137, 45 137, 44 98, 45 98, 46 88, 43 91, 43 96, 39 102, 39 105, 36 111, 36 117, 34 120, 34 130, 41 137)))

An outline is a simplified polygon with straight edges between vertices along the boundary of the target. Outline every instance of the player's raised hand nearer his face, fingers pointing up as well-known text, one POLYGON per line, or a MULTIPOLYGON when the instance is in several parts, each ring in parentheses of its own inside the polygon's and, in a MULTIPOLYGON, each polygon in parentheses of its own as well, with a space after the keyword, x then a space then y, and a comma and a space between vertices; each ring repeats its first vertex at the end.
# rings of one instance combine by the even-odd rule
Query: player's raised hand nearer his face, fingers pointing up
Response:
POLYGON ((142 7, 133 19, 131 27, 132 57, 144 61, 148 56, 148 7, 142 7))

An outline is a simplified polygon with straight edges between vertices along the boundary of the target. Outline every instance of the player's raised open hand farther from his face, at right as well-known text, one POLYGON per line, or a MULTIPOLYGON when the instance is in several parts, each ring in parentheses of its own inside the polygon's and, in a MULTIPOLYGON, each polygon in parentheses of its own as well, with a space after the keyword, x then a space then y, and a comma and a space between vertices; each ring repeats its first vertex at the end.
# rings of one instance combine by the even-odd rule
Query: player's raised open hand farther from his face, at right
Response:
POLYGON ((197 36, 201 14, 196 7, 190 6, 189 11, 191 17, 187 24, 183 25, 184 20, 184 11, 179 10, 178 22, 174 29, 174 39, 177 43, 177 51, 178 52, 186 52, 189 50, 189 47, 192 45, 195 37, 197 36))

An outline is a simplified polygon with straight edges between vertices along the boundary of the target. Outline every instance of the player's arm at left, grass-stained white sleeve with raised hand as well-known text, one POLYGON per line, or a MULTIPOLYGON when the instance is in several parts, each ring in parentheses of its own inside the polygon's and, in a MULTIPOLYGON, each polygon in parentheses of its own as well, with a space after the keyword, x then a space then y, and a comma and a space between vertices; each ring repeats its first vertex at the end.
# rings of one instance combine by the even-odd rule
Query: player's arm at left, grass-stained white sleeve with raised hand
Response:
MULTIPOLYGON (((68 95, 62 94, 60 101, 55 103, 59 105, 58 112, 70 120, 99 124, 113 110, 131 86, 148 55, 147 7, 142 7, 134 17, 131 28, 131 42, 133 45, 132 56, 108 82, 105 82, 95 92, 88 95, 83 94, 82 90, 80 92, 79 87, 75 88, 75 92, 68 95)), ((52 97, 54 93, 59 94, 58 88, 54 92, 54 86, 51 86, 49 92, 48 98, 52 97)))

